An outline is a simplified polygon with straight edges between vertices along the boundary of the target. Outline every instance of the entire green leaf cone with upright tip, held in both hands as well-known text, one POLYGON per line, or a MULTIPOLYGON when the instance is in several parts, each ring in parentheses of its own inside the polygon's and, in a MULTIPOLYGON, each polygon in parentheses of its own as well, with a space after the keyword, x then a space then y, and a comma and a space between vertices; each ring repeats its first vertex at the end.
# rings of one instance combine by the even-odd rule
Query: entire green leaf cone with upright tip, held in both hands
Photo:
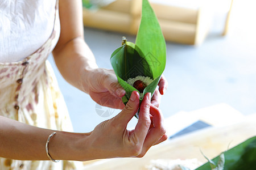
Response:
POLYGON ((123 41, 122 46, 113 52, 110 62, 118 82, 126 91, 123 103, 127 103, 131 92, 138 91, 126 82, 129 78, 148 76, 153 80, 144 88, 140 101, 147 92, 154 94, 166 65, 166 42, 158 19, 147 0, 143 0, 136 43, 123 41))

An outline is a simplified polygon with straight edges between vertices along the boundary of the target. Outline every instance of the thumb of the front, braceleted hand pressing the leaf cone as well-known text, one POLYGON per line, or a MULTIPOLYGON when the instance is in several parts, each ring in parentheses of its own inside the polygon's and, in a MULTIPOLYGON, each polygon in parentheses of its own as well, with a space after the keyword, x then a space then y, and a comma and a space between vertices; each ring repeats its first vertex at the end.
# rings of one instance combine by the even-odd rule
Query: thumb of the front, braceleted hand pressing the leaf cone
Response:
POLYGON ((131 97, 127 102, 125 108, 117 114, 116 118, 119 122, 122 122, 123 125, 127 125, 131 118, 134 117, 135 113, 137 113, 139 109, 139 93, 137 91, 133 91, 131 93, 131 97))

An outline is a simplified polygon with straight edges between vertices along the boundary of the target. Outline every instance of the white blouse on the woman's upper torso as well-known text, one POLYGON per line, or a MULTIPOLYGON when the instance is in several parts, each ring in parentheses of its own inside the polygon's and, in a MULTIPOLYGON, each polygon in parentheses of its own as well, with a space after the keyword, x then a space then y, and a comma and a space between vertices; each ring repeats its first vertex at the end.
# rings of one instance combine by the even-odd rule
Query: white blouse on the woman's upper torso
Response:
POLYGON ((1 0, 0 62, 20 61, 49 39, 55 4, 56 0, 1 0))

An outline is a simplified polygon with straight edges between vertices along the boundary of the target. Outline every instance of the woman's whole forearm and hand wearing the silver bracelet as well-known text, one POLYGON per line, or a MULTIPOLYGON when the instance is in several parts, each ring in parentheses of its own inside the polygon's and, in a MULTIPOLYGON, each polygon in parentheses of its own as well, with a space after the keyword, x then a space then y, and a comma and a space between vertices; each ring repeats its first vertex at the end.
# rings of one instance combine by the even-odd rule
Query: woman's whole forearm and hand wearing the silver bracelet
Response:
POLYGON ((127 124, 139 108, 139 94, 134 91, 126 107, 115 117, 97 125, 90 133, 69 133, 37 128, 0 116, 0 156, 19 160, 53 159, 92 160, 117 157, 142 157, 148 149, 167 139, 160 110, 150 103, 146 94, 141 103, 138 123, 134 130, 127 124))

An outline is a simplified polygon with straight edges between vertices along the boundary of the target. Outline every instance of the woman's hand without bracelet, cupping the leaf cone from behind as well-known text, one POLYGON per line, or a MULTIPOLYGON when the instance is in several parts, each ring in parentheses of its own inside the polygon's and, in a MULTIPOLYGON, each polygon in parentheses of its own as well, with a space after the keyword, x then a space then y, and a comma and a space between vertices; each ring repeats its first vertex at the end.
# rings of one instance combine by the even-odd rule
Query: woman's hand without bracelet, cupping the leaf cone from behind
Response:
MULTIPOLYGON (((115 109, 123 109, 125 107, 122 102, 125 90, 118 83, 117 76, 113 70, 94 69, 90 71, 89 79, 84 84, 87 87, 89 85, 88 93, 96 103, 115 109)), ((158 86, 159 88, 156 88, 151 99, 151 104, 155 107, 159 107, 161 95, 164 94, 168 86, 167 80, 163 75, 158 86)))

